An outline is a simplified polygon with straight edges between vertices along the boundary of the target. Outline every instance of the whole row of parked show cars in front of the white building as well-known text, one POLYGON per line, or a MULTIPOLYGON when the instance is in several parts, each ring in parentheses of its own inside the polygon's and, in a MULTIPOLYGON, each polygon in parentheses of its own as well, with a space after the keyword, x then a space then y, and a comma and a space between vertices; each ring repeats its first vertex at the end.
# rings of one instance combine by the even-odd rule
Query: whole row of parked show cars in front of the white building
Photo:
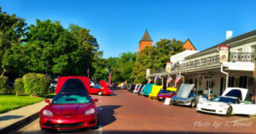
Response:
POLYGON ((171 98, 172 105, 183 105, 191 108, 196 107, 197 112, 208 114, 256 114, 256 104, 243 103, 247 96, 247 89, 238 87, 227 88, 222 96, 212 99, 204 98, 195 93, 194 84, 182 84, 178 91, 177 88, 157 86, 155 84, 132 84, 125 88, 129 92, 143 95, 148 98, 164 101, 171 98))

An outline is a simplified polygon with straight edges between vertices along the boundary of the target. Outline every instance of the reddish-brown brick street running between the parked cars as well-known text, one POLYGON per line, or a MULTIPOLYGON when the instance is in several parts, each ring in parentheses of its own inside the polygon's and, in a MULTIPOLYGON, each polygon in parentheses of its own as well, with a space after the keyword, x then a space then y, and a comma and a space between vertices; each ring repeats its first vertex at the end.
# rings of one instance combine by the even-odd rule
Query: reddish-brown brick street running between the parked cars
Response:
MULTIPOLYGON (((255 133, 256 118, 232 115, 224 117, 197 113, 195 109, 166 106, 126 90, 114 90, 113 96, 96 96, 100 109, 100 128, 68 133, 255 133)), ((38 120, 13 133, 44 133, 38 120)), ((66 132, 66 131, 63 131, 66 132)), ((66 132, 66 133, 67 133, 66 132)))

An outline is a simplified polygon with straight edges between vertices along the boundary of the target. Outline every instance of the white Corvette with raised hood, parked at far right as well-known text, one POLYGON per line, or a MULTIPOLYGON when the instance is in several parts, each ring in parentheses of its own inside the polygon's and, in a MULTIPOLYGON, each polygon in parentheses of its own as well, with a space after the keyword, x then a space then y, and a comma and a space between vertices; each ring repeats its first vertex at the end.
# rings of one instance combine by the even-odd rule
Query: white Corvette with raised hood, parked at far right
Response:
POLYGON ((200 98, 196 111, 212 114, 256 114, 256 104, 242 103, 247 95, 247 89, 238 87, 227 88, 222 96, 212 98, 200 98))

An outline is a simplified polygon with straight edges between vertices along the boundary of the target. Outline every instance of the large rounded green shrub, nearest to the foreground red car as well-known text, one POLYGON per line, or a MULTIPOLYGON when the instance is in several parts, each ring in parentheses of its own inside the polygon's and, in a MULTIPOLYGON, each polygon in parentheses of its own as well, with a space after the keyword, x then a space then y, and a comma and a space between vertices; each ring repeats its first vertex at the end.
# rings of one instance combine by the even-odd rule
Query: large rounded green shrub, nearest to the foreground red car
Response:
POLYGON ((43 74, 29 73, 23 76, 25 92, 32 96, 44 97, 49 91, 49 77, 43 74))

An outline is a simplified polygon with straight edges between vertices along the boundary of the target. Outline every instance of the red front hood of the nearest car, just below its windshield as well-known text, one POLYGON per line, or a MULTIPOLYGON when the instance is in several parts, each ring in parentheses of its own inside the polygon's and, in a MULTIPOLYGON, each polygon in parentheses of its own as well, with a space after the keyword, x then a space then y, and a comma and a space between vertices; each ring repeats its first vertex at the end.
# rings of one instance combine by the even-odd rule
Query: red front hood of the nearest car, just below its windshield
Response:
POLYGON ((51 105, 55 114, 84 114, 90 103, 72 103, 51 105))

